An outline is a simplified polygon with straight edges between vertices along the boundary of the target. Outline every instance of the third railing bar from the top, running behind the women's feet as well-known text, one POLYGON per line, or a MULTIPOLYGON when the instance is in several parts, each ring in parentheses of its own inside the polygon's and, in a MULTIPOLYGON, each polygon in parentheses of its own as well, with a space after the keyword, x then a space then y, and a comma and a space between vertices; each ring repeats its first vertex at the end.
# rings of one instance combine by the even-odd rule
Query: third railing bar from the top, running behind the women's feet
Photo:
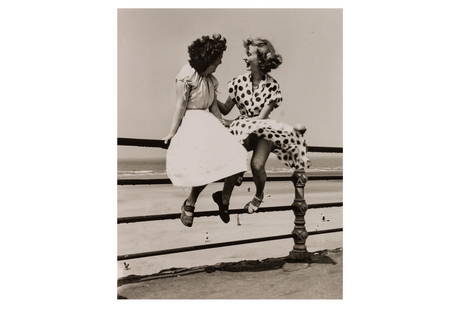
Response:
MULTIPOLYGON (((309 209, 320 209, 320 208, 334 208, 342 207, 342 202, 330 202, 330 203, 315 203, 309 204, 309 209)), ((261 207, 258 212, 277 212, 277 211, 291 211, 292 206, 276 206, 276 207, 261 207)), ((217 216, 218 211, 199 211, 195 212, 195 217, 205 216, 217 216)), ((245 209, 231 209, 230 214, 242 214, 247 213, 245 209)), ((128 216, 119 217, 118 224, 124 223, 137 223, 137 222, 148 222, 148 221, 161 221, 161 220, 174 220, 180 217, 180 213, 166 213, 166 214, 153 214, 153 215, 140 215, 140 216, 128 216)))

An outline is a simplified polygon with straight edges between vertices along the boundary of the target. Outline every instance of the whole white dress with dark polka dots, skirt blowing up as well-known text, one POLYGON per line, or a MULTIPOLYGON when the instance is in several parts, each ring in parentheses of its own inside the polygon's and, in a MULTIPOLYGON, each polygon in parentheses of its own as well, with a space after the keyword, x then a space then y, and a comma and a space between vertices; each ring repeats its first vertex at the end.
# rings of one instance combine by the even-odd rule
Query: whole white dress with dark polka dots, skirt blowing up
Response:
POLYGON ((257 89, 253 89, 251 74, 243 74, 229 82, 228 91, 241 114, 239 119, 232 122, 230 131, 241 143, 255 133, 258 137, 273 142, 272 152, 287 167, 303 170, 310 166, 303 135, 288 124, 255 118, 266 105, 274 104, 278 107, 282 102, 281 90, 274 78, 266 75, 257 89))

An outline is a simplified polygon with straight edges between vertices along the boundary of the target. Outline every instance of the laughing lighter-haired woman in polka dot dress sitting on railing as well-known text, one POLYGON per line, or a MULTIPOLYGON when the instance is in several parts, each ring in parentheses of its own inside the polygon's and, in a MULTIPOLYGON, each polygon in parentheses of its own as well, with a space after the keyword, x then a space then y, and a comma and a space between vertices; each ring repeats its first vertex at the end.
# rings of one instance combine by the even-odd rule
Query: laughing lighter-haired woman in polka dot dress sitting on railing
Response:
MULTIPOLYGON (((310 162, 303 135, 288 124, 268 118, 282 102, 279 84, 268 72, 282 63, 282 57, 265 39, 247 39, 244 47, 247 54, 244 60, 250 72, 230 81, 228 99, 225 103, 217 103, 223 115, 228 114, 233 106, 238 107, 241 115, 230 123, 230 132, 248 151, 254 151, 251 169, 256 194, 244 207, 253 213, 263 201, 265 163, 270 152, 289 168, 304 170, 310 162)), ((214 193, 213 200, 223 208, 228 207, 233 188, 234 184, 225 182, 223 192, 214 193)))

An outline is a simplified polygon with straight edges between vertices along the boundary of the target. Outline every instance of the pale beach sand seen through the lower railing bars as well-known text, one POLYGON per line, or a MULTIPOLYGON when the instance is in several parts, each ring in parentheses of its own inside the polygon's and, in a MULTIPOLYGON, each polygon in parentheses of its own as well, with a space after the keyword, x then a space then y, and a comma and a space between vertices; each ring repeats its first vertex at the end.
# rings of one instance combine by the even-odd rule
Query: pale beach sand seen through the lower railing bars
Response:
MULTIPOLYGON (((196 211, 217 210, 211 194, 221 187, 222 183, 208 185, 198 199, 196 211)), ((172 185, 118 186, 118 217, 178 213, 188 192, 187 188, 172 185)), ((244 182, 235 188, 230 208, 242 208, 253 194, 254 184, 244 182)), ((309 181, 305 199, 309 204, 342 202, 342 181, 309 181)), ((262 206, 291 205, 293 200, 294 186, 290 181, 268 182, 262 206)), ((292 211, 241 214, 239 218, 241 225, 237 225, 237 215, 231 215, 228 224, 216 216, 195 218, 190 228, 179 219, 119 224, 118 255, 289 234, 294 228, 292 211)), ((305 219, 308 231, 343 227, 341 207, 308 210, 305 219)), ((284 239, 119 261, 118 278, 152 274, 172 267, 282 257, 289 254, 293 244, 293 239, 284 239), (123 262, 128 265, 125 267, 123 262)), ((339 247, 342 247, 342 232, 307 238, 308 251, 339 247)))

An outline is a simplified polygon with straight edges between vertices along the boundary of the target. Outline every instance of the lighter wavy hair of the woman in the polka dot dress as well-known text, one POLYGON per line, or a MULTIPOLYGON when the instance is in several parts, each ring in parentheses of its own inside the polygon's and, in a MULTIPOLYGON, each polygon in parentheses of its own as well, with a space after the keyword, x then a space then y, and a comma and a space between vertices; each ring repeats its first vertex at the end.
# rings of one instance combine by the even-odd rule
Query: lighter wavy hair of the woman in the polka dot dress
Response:
MULTIPOLYGON (((276 51, 270 41, 262 38, 249 38, 244 41, 244 47, 246 50, 250 46, 256 46, 257 48, 257 59, 258 67, 263 73, 268 73, 272 69, 276 69, 283 63, 281 55, 276 54, 276 51)), ((247 66, 249 65, 246 61, 247 66)))

